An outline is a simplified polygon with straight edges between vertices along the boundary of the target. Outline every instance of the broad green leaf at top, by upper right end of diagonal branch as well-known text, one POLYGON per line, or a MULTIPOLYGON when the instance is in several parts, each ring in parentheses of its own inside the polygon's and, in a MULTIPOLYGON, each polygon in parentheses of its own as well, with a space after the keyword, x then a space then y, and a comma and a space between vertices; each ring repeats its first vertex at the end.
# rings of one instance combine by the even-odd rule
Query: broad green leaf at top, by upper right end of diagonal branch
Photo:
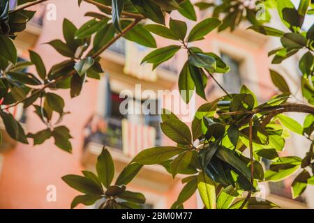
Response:
MULTIPOLYGON (((121 26, 123 28, 126 28, 126 26, 129 24, 130 21, 128 20, 121 21, 121 26)), ((124 34, 124 38, 145 47, 156 48, 156 40, 154 39, 154 36, 152 36, 151 33, 147 31, 147 29, 144 29, 142 24, 137 24, 133 27, 133 29, 130 29, 127 33, 124 34)))

